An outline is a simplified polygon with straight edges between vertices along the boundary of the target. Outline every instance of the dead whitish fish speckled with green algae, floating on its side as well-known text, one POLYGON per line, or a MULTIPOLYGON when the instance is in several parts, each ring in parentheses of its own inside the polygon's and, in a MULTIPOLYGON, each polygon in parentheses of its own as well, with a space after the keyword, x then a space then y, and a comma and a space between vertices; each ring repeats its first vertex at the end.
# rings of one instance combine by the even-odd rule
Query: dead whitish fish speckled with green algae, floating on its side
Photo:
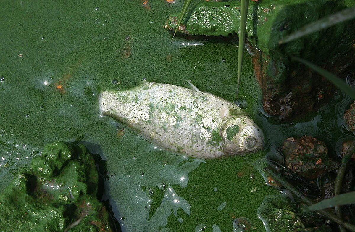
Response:
POLYGON ((242 109, 190 85, 151 82, 106 91, 100 109, 158 147, 192 157, 242 155, 264 146, 262 131, 242 109))

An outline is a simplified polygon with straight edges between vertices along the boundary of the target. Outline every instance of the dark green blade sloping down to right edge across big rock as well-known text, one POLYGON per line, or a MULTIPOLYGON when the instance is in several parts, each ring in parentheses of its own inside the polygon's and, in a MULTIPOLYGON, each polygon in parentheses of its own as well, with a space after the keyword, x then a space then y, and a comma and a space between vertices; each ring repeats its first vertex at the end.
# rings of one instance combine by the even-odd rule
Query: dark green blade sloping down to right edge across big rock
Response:
POLYGON ((349 85, 346 84, 345 81, 340 79, 339 77, 335 76, 331 72, 328 72, 327 70, 324 70, 320 67, 318 67, 315 64, 312 64, 311 62, 308 62, 307 60, 298 58, 298 57, 292 57, 291 59, 299 61, 302 64, 307 65, 309 68, 313 69, 314 71, 318 72, 321 74, 323 77, 331 81, 335 86, 340 88, 340 90, 343 90, 349 97, 353 98, 355 100, 355 88, 350 87, 349 85))

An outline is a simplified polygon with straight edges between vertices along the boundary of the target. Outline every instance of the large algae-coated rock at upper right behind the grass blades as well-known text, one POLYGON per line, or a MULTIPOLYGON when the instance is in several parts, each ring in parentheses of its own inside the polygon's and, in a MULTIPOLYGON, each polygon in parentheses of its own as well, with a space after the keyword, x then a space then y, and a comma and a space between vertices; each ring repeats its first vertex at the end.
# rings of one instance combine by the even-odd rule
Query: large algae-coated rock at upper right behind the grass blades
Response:
MULTIPOLYGON (((279 40, 307 23, 355 6, 355 2, 276 0, 250 1, 249 4, 247 47, 262 87, 265 112, 289 119, 319 108, 331 97, 333 85, 290 58, 304 58, 343 76, 355 66, 354 20, 286 44, 280 45, 279 40)), ((178 15, 172 14, 164 28, 174 31, 178 15)), ((178 31, 190 35, 229 36, 239 34, 239 20, 240 1, 201 2, 186 14, 182 21, 185 23, 179 25, 178 31)))

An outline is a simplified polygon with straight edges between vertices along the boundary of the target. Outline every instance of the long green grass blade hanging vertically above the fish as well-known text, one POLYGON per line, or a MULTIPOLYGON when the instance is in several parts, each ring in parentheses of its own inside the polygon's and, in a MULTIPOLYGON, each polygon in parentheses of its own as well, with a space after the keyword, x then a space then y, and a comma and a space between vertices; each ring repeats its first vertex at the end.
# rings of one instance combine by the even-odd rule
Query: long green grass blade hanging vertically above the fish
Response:
POLYGON ((239 31, 239 47, 238 47, 238 80, 237 80, 237 94, 239 92, 239 82, 242 72, 243 64, 243 53, 245 44, 245 29, 246 29, 246 18, 248 16, 249 0, 240 1, 240 31, 239 31))

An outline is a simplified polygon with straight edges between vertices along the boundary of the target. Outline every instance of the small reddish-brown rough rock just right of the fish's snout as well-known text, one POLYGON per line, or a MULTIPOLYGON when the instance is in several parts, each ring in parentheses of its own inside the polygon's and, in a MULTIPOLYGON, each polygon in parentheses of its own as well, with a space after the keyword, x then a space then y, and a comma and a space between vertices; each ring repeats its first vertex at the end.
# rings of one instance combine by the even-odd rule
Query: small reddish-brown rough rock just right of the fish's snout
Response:
POLYGON ((337 167, 337 163, 328 158, 326 144, 308 135, 286 139, 282 152, 285 167, 307 179, 316 179, 337 167))

